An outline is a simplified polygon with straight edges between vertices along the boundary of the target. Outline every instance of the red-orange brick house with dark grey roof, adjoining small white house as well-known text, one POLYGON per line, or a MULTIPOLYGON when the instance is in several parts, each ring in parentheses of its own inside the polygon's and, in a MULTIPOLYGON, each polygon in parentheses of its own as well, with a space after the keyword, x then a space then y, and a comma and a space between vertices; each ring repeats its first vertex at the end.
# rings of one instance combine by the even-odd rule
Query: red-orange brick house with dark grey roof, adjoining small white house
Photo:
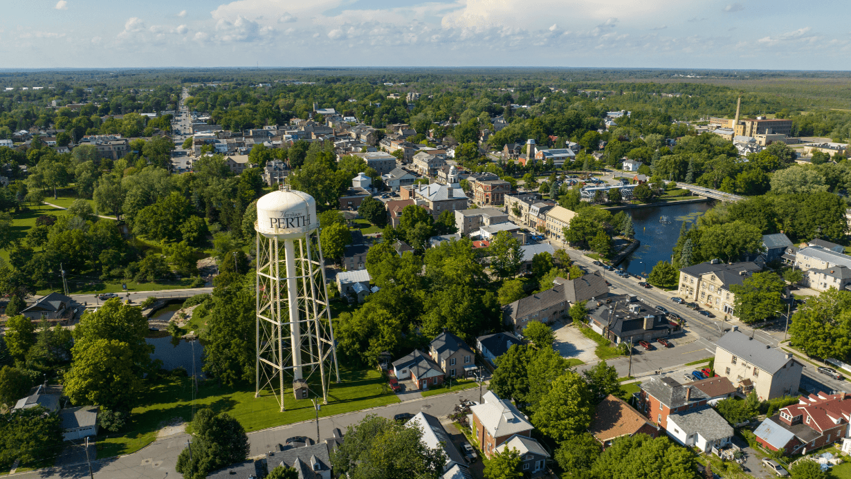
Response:
POLYGON ((638 410, 662 429, 668 424, 668 414, 683 413, 703 406, 709 398, 700 389, 681 385, 676 379, 651 376, 641 384, 638 410))

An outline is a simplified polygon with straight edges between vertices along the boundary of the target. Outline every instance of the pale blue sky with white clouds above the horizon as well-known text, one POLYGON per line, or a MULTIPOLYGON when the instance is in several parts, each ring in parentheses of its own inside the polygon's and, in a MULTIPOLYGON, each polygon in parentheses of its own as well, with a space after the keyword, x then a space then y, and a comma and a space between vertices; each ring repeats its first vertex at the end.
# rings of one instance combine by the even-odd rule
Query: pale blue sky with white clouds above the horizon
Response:
POLYGON ((819 0, 28 0, 5 68, 600 66, 851 70, 819 0))

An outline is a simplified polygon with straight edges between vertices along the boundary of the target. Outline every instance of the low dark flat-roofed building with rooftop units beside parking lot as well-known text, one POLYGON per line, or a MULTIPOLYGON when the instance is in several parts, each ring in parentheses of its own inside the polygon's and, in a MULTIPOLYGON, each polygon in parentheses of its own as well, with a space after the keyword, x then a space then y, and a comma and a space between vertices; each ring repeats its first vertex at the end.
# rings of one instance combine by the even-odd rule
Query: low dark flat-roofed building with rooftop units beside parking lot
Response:
POLYGON ((619 294, 587 303, 591 329, 615 344, 637 345, 670 336, 681 327, 665 313, 631 294, 619 294))

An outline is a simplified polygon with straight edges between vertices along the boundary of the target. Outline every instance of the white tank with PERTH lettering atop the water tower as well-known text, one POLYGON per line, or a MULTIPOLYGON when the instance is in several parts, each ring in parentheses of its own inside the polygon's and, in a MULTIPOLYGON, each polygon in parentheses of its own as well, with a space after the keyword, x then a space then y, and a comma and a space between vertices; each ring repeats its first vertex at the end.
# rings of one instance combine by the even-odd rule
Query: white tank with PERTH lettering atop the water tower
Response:
POLYGON ((257 200, 254 229, 265 237, 304 237, 318 226, 317 202, 305 192, 291 191, 283 185, 281 190, 257 200))

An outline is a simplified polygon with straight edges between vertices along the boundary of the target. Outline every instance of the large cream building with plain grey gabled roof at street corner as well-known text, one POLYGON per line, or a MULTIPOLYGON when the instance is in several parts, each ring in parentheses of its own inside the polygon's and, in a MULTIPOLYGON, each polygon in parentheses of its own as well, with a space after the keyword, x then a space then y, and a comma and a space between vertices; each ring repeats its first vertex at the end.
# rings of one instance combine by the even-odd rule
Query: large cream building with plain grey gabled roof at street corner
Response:
POLYGON ((717 340, 714 368, 743 394, 754 391, 760 400, 768 400, 797 394, 803 365, 791 353, 741 334, 734 326, 717 340))

